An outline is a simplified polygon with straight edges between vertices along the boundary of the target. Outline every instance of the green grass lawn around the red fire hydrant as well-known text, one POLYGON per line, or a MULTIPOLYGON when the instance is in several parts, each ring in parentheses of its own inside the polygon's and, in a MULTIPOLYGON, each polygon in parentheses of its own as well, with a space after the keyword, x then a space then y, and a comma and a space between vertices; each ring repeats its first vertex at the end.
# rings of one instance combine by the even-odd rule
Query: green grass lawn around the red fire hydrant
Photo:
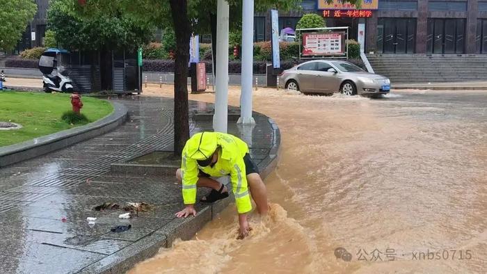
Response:
MULTIPOLYGON (((109 102, 82 97, 81 113, 90 122, 104 118, 113 111, 109 102)), ((22 129, 0 130, 0 147, 53 134, 74 126, 61 120, 71 110, 70 94, 40 92, 0 92, 0 121, 22 124, 22 129)))

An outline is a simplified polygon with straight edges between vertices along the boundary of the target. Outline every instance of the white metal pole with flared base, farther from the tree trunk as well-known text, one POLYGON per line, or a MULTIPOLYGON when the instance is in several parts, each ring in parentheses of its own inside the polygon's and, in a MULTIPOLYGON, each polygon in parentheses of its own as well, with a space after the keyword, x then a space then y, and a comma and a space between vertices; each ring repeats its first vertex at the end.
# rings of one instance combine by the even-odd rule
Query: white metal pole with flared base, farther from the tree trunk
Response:
POLYGON ((254 0, 242 1, 242 76, 239 124, 255 124, 252 118, 254 0))

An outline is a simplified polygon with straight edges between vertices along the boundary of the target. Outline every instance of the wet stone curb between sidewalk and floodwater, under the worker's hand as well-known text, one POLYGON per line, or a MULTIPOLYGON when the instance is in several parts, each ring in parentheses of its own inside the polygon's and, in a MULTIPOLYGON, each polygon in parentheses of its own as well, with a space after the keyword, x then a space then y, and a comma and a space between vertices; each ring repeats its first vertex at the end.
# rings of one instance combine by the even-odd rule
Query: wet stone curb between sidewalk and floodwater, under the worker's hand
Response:
MULTIPOLYGON (((269 124, 273 129, 273 145, 268 156, 260 163, 260 174, 262 179, 269 176, 278 164, 278 155, 280 153, 280 130, 271 118, 269 124)), ((211 206, 196 204, 198 214, 191 218, 174 218, 167 225, 156 230, 153 234, 146 236, 144 239, 134 243, 134 248, 124 248, 113 253, 95 264, 84 268, 79 273, 125 273, 135 264, 145 259, 149 259, 157 254, 159 248, 170 248, 176 239, 184 241, 193 238, 206 223, 218 216, 228 204, 234 202, 234 195, 219 200, 211 206), (124 251, 126 250, 126 251, 124 251)))

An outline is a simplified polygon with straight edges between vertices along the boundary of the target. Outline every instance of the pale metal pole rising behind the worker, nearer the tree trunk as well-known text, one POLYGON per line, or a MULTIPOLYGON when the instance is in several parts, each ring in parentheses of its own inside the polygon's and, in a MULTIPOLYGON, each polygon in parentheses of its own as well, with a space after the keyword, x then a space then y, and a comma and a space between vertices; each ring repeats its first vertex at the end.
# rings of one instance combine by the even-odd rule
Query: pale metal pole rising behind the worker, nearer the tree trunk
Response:
POLYGON ((216 94, 214 131, 227 132, 228 116, 228 24, 230 8, 227 1, 218 0, 216 8, 216 94))

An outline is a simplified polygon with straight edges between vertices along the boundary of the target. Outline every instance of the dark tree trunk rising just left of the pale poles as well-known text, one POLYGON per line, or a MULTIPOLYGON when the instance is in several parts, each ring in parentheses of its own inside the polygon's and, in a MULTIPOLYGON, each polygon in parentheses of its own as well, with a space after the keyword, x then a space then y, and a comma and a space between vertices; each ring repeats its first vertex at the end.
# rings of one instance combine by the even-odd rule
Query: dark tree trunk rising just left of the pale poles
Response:
POLYGON ((191 28, 187 0, 170 0, 176 35, 174 62, 174 152, 181 155, 189 139, 188 62, 191 28))

